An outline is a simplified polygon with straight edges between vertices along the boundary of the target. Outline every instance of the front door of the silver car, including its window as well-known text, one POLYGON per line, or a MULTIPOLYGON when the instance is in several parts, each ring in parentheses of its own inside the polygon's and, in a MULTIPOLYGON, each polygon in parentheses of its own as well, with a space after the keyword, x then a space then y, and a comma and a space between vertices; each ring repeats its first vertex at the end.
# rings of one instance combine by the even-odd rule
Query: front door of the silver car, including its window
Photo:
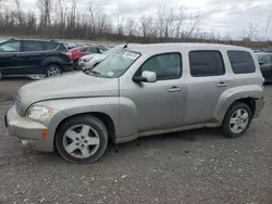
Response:
MULTIPOLYGON (((163 53, 149 58, 136 72, 157 74, 156 82, 120 85, 120 97, 129 99, 136 106, 136 125, 139 132, 181 127, 187 106, 188 89, 182 80, 181 53, 163 53)), ((122 115, 121 118, 125 118, 122 115)))

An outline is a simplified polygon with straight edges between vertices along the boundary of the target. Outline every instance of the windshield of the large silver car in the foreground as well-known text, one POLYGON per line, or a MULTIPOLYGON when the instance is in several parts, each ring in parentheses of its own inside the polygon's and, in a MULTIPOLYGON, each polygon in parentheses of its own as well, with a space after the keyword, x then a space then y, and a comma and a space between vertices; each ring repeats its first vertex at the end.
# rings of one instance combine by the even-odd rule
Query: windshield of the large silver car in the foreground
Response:
POLYGON ((139 56, 140 54, 137 52, 116 50, 100 62, 92 69, 92 73, 96 73, 97 76, 100 77, 118 78, 123 75, 139 56))

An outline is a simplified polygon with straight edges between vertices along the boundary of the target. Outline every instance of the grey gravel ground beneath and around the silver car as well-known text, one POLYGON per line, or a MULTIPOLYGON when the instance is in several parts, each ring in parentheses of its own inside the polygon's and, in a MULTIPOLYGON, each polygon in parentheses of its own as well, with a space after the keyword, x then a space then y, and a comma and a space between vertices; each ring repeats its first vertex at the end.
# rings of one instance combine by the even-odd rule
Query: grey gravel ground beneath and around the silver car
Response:
POLYGON ((213 129, 154 136, 110 145, 95 164, 72 165, 8 136, 4 113, 27 81, 0 81, 0 203, 272 203, 272 86, 242 138, 213 129))

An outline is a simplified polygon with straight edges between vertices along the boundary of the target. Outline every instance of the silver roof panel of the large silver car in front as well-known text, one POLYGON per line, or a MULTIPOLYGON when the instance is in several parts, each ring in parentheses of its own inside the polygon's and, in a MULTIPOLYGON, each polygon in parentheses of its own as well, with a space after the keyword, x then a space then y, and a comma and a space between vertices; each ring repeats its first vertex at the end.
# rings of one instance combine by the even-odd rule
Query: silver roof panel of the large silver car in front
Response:
POLYGON ((245 50, 252 52, 251 49, 237 47, 237 46, 228 46, 228 44, 220 44, 220 43, 191 43, 191 42, 178 42, 178 43, 149 43, 149 44, 133 44, 129 46, 128 50, 133 50, 140 53, 160 53, 160 52, 176 52, 181 49, 191 50, 245 50))

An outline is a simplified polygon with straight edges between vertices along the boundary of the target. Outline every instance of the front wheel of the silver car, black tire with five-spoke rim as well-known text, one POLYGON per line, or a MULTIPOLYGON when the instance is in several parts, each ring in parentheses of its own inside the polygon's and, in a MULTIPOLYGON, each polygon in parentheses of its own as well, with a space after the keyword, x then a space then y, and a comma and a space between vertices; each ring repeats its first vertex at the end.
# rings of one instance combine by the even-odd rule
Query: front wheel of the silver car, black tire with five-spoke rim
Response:
POLYGON ((98 161, 103 155, 107 145, 107 128, 100 119, 91 115, 75 116, 67 119, 55 135, 58 152, 65 161, 74 164, 98 161), (89 131, 86 131, 87 127, 89 131), (86 135, 86 132, 88 133, 86 135))

